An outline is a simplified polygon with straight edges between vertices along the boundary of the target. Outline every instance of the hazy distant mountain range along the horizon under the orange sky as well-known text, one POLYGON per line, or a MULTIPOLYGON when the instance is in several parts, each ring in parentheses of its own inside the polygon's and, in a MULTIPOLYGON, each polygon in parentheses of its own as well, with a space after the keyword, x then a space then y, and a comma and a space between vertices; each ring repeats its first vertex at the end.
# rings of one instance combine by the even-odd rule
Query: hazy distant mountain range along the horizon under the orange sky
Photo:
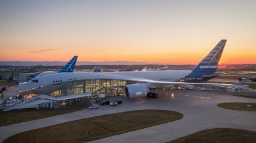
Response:
MULTIPOLYGON (((0 65, 10 65, 10 66, 36 66, 36 65, 66 65, 68 61, 0 61, 0 65)), ((147 62, 136 62, 136 61, 77 61, 76 65, 148 65, 148 64, 158 64, 164 65, 162 63, 147 63, 147 62)))

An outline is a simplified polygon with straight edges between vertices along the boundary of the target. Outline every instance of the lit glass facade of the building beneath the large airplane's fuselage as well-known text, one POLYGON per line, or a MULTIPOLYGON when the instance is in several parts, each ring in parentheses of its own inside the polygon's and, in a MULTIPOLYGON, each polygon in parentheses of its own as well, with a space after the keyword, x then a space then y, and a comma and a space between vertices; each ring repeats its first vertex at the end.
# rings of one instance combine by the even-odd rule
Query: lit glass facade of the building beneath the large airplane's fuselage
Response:
POLYGON ((64 86, 51 93, 53 96, 64 96, 68 94, 105 93, 110 96, 124 95, 125 85, 134 84, 127 80, 96 79, 96 80, 77 80, 64 83, 64 86))

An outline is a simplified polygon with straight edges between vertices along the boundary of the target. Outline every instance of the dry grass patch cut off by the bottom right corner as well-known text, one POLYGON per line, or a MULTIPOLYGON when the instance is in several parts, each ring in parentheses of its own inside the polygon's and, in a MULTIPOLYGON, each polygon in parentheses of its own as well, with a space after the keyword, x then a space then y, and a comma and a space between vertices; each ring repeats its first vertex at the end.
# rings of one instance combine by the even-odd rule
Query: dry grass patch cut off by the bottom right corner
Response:
POLYGON ((242 129, 206 129, 203 131, 199 131, 197 133, 193 133, 191 135, 177 138, 176 140, 172 140, 168 143, 196 143, 196 142, 225 142, 225 143, 254 143, 256 140, 256 132, 255 131, 246 131, 242 129))

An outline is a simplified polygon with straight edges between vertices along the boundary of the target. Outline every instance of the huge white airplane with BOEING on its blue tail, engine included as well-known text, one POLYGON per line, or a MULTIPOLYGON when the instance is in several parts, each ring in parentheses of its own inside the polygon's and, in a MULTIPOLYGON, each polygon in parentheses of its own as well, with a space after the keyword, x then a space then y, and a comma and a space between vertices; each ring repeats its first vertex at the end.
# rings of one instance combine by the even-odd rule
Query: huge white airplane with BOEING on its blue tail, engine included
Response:
MULTIPOLYGON (((248 89, 248 87, 230 84, 199 83, 210 80, 222 72, 216 72, 220 57, 227 40, 222 39, 212 50, 203 58, 202 61, 192 71, 141 71, 141 72, 61 72, 59 74, 48 74, 32 79, 20 85, 16 92, 21 94, 50 94, 67 82, 79 80, 127 80, 139 82, 136 84, 125 85, 125 96, 127 98, 139 98, 143 96, 154 96, 152 93, 157 87, 191 86, 191 85, 214 85, 218 87, 229 87, 238 89, 248 89)), ((255 89, 251 89, 254 92, 255 89)))

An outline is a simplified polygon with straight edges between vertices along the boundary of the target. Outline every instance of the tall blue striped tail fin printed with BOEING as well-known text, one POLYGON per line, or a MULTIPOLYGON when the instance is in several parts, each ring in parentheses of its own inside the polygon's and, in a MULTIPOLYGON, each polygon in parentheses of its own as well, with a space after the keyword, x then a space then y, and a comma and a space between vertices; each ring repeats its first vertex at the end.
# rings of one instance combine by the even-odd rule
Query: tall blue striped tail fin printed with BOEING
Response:
POLYGON ((226 39, 220 40, 220 42, 211 50, 211 52, 209 52, 209 54, 207 54, 207 56, 205 56, 205 58, 203 58, 203 60, 201 60, 200 63, 198 63, 192 73, 188 74, 186 78, 199 78, 207 75, 214 75, 226 42, 226 39))

